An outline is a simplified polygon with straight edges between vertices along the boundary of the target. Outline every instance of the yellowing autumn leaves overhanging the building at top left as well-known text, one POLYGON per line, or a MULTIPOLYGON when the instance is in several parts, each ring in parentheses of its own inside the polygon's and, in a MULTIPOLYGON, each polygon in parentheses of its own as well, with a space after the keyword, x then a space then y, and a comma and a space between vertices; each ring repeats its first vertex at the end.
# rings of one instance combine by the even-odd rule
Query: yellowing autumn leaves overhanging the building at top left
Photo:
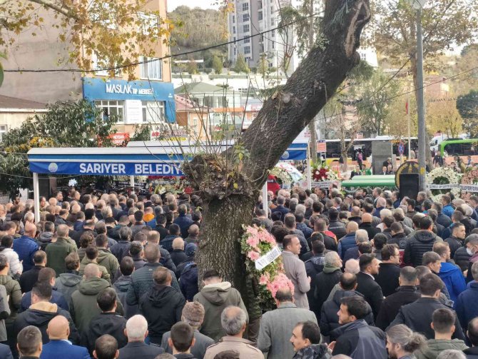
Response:
MULTIPOLYGON (((139 56, 157 56, 155 45, 174 28, 148 0, 0 0, 0 51, 8 54, 24 31, 59 31, 69 54, 60 62, 90 70, 92 56, 99 68, 127 66, 139 56)), ((124 71, 133 78, 134 66, 124 71)), ((112 71, 112 75, 113 75, 112 71)))

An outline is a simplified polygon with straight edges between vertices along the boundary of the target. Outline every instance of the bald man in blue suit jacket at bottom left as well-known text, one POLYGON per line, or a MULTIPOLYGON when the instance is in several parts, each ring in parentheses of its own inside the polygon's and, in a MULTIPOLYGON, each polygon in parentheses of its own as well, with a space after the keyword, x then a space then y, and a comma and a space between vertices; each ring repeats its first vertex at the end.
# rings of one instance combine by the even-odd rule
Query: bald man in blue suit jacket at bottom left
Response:
POLYGON ((50 320, 46 328, 50 342, 43 346, 41 359, 89 359, 90 355, 86 348, 72 345, 68 341, 70 327, 68 320, 63 315, 56 315, 50 320))

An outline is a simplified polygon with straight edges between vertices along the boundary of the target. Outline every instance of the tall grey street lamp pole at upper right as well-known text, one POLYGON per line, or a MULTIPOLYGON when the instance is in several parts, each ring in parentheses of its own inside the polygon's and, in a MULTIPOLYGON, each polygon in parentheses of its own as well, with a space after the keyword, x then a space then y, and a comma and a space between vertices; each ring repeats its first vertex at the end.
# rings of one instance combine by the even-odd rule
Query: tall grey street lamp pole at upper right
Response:
POLYGON ((425 108, 423 94, 423 34, 422 34, 422 8, 427 0, 409 0, 417 12, 417 114, 418 114, 418 178, 419 190, 425 191, 427 178, 425 166, 427 157, 425 108))

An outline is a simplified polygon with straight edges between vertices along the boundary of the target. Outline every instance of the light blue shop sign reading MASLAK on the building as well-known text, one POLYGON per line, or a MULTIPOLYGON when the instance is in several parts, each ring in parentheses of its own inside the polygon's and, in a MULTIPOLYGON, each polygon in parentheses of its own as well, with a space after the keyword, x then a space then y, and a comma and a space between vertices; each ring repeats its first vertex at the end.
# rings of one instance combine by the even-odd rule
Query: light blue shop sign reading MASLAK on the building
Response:
POLYGON ((96 100, 164 101, 169 122, 176 121, 174 87, 170 82, 103 80, 83 77, 83 98, 96 100))

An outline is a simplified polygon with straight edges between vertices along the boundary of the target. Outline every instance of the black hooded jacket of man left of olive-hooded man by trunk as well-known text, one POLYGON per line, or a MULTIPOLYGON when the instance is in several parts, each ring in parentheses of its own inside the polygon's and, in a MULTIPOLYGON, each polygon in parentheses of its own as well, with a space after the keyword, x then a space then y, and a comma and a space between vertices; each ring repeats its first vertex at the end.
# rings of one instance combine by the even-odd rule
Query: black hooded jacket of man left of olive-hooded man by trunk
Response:
POLYGON ((181 320, 186 301, 171 286, 155 285, 139 300, 139 311, 148 320, 151 343, 161 345, 163 334, 181 320))

